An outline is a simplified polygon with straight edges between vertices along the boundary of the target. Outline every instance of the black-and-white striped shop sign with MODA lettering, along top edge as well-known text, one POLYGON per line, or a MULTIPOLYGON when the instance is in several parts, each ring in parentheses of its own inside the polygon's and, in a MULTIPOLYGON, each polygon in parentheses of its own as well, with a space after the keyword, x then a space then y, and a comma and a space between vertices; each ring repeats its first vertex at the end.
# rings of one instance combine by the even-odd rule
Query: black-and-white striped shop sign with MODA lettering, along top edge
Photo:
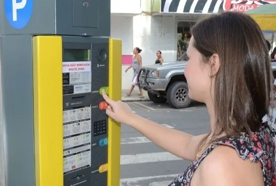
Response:
POLYGON ((224 11, 246 12, 265 4, 276 4, 276 0, 162 0, 164 13, 218 13, 224 11))

